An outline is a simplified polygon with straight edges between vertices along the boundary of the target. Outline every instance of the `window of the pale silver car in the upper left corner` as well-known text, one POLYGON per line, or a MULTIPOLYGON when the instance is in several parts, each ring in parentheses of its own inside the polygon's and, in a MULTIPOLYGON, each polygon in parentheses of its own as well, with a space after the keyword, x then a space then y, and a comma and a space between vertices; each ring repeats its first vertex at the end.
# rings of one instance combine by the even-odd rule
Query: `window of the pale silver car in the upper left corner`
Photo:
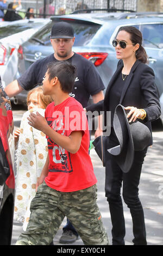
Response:
POLYGON ((8 25, 0 28, 0 39, 5 38, 6 36, 13 35, 16 33, 20 33, 26 29, 34 28, 36 26, 40 26, 40 23, 27 23, 27 24, 15 24, 8 25))

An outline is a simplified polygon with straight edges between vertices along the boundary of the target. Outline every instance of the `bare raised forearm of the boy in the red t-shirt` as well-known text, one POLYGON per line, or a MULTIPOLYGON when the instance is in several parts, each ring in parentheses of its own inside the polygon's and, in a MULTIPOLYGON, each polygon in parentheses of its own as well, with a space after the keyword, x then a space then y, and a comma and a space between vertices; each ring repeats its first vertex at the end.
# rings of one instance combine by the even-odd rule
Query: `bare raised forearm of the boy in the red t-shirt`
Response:
POLYGON ((75 154, 80 148, 82 142, 82 131, 73 131, 70 136, 64 136, 54 131, 47 123, 46 119, 42 117, 38 112, 36 114, 30 113, 29 125, 35 129, 42 131, 48 137, 50 137, 61 148, 66 149, 68 152, 75 154))

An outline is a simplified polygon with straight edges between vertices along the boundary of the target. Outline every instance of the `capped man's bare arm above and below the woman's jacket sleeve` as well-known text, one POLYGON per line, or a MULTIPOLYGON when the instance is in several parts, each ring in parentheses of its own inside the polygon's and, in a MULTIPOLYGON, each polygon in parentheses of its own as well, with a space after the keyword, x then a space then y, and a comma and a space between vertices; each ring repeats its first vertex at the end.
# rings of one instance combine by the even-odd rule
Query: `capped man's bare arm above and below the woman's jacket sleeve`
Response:
MULTIPOLYGON (((103 99, 104 99, 104 93, 103 93, 102 90, 101 90, 101 92, 99 92, 95 95, 92 95, 93 103, 97 103, 97 102, 99 102, 103 99)), ((95 132, 95 138, 97 138, 98 136, 101 136, 103 134, 102 121, 103 121, 103 117, 102 117, 102 115, 99 115, 99 117, 98 117, 98 127, 97 127, 97 130, 95 132)))

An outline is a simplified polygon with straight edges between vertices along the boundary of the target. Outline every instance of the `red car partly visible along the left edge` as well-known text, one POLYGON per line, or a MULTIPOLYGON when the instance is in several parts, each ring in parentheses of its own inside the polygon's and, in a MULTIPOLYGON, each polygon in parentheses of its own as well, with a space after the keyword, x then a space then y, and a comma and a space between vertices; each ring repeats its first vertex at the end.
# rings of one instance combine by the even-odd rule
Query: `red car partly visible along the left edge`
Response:
POLYGON ((0 77, 0 245, 10 245, 14 216, 15 178, 10 145, 14 123, 10 101, 0 77))

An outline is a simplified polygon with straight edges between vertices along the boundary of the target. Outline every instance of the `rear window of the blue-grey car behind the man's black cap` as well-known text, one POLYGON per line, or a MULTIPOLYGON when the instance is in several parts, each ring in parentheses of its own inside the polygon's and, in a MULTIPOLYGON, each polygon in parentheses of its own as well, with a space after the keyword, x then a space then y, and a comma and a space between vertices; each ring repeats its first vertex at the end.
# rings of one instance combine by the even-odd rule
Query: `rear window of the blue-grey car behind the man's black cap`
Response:
MULTIPOLYGON (((74 36, 76 40, 74 41, 74 46, 84 46, 87 45, 93 36, 96 34, 101 25, 96 23, 81 23, 78 21, 71 22, 71 25, 74 29, 74 36)), ((35 33, 33 38, 30 39, 32 44, 45 44, 50 45, 50 36, 51 36, 52 23, 48 24, 45 28, 41 29, 39 32, 35 33)))

